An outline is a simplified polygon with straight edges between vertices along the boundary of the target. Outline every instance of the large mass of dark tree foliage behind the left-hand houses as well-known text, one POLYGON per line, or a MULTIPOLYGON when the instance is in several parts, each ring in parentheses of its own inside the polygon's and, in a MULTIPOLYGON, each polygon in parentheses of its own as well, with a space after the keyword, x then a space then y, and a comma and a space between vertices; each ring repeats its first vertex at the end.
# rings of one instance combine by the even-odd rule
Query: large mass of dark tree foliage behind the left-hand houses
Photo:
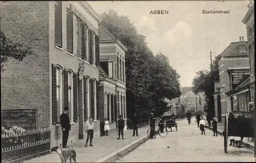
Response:
POLYGON ((146 37, 137 32, 127 16, 109 10, 101 17, 102 25, 128 49, 125 53, 127 117, 131 118, 135 111, 163 113, 167 108, 164 98, 181 95, 179 74, 166 56, 159 53, 154 57, 146 37))

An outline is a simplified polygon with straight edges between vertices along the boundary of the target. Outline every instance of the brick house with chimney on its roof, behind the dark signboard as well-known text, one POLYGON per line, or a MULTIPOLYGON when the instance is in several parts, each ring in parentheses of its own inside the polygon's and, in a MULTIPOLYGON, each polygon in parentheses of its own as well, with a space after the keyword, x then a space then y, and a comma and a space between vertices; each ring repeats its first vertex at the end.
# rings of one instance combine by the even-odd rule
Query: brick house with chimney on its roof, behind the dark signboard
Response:
POLYGON ((222 115, 229 112, 227 95, 225 93, 232 89, 230 85, 230 76, 227 70, 249 68, 248 57, 247 41, 244 41, 243 37, 240 37, 239 42, 231 42, 227 48, 217 56, 217 60, 219 60, 219 89, 222 115))

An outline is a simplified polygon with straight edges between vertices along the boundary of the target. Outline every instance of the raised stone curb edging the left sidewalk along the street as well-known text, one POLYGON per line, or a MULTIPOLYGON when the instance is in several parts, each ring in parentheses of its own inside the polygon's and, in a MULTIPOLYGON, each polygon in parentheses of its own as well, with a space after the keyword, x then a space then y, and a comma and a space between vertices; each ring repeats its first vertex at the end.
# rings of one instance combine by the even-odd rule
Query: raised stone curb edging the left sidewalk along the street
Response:
POLYGON ((133 143, 126 145, 125 147, 123 147, 105 157, 102 157, 95 162, 114 162, 115 160, 118 160, 118 159, 122 158, 123 156, 125 156, 126 154, 130 153, 131 151, 133 151, 134 149, 139 147, 141 144, 143 144, 147 140, 148 140, 148 136, 145 135, 145 136, 141 137, 140 139, 138 139, 137 141, 134 141, 133 143))

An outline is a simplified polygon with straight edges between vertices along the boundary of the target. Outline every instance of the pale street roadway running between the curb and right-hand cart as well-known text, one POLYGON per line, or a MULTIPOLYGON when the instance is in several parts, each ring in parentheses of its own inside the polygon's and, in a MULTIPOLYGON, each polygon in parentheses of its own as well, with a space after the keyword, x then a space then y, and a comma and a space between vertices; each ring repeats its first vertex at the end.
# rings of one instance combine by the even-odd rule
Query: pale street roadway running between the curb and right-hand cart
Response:
POLYGON ((188 126, 186 120, 178 121, 178 131, 169 132, 165 138, 157 136, 119 159, 117 162, 245 162, 252 161, 253 151, 246 148, 228 146, 224 153, 223 136, 212 136, 205 129, 201 135, 195 119, 188 126), (170 147, 170 148, 167 148, 170 147))

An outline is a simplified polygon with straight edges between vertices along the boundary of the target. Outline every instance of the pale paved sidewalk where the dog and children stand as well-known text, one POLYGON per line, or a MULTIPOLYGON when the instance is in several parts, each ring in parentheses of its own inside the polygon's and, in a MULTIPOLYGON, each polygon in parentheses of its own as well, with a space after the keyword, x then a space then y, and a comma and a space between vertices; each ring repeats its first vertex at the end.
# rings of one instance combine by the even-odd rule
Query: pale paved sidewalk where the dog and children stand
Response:
MULTIPOLYGON (((95 162, 96 160, 109 155, 122 147, 137 141, 145 136, 149 126, 138 129, 139 136, 132 136, 133 130, 124 131, 124 139, 117 139, 118 133, 109 134, 109 136, 100 136, 93 139, 93 147, 84 147, 86 139, 79 140, 79 144, 74 144, 77 162, 95 162)), ((68 160, 69 161, 69 160, 68 160)), ((60 162, 59 155, 52 152, 48 155, 27 160, 25 162, 60 162)))

